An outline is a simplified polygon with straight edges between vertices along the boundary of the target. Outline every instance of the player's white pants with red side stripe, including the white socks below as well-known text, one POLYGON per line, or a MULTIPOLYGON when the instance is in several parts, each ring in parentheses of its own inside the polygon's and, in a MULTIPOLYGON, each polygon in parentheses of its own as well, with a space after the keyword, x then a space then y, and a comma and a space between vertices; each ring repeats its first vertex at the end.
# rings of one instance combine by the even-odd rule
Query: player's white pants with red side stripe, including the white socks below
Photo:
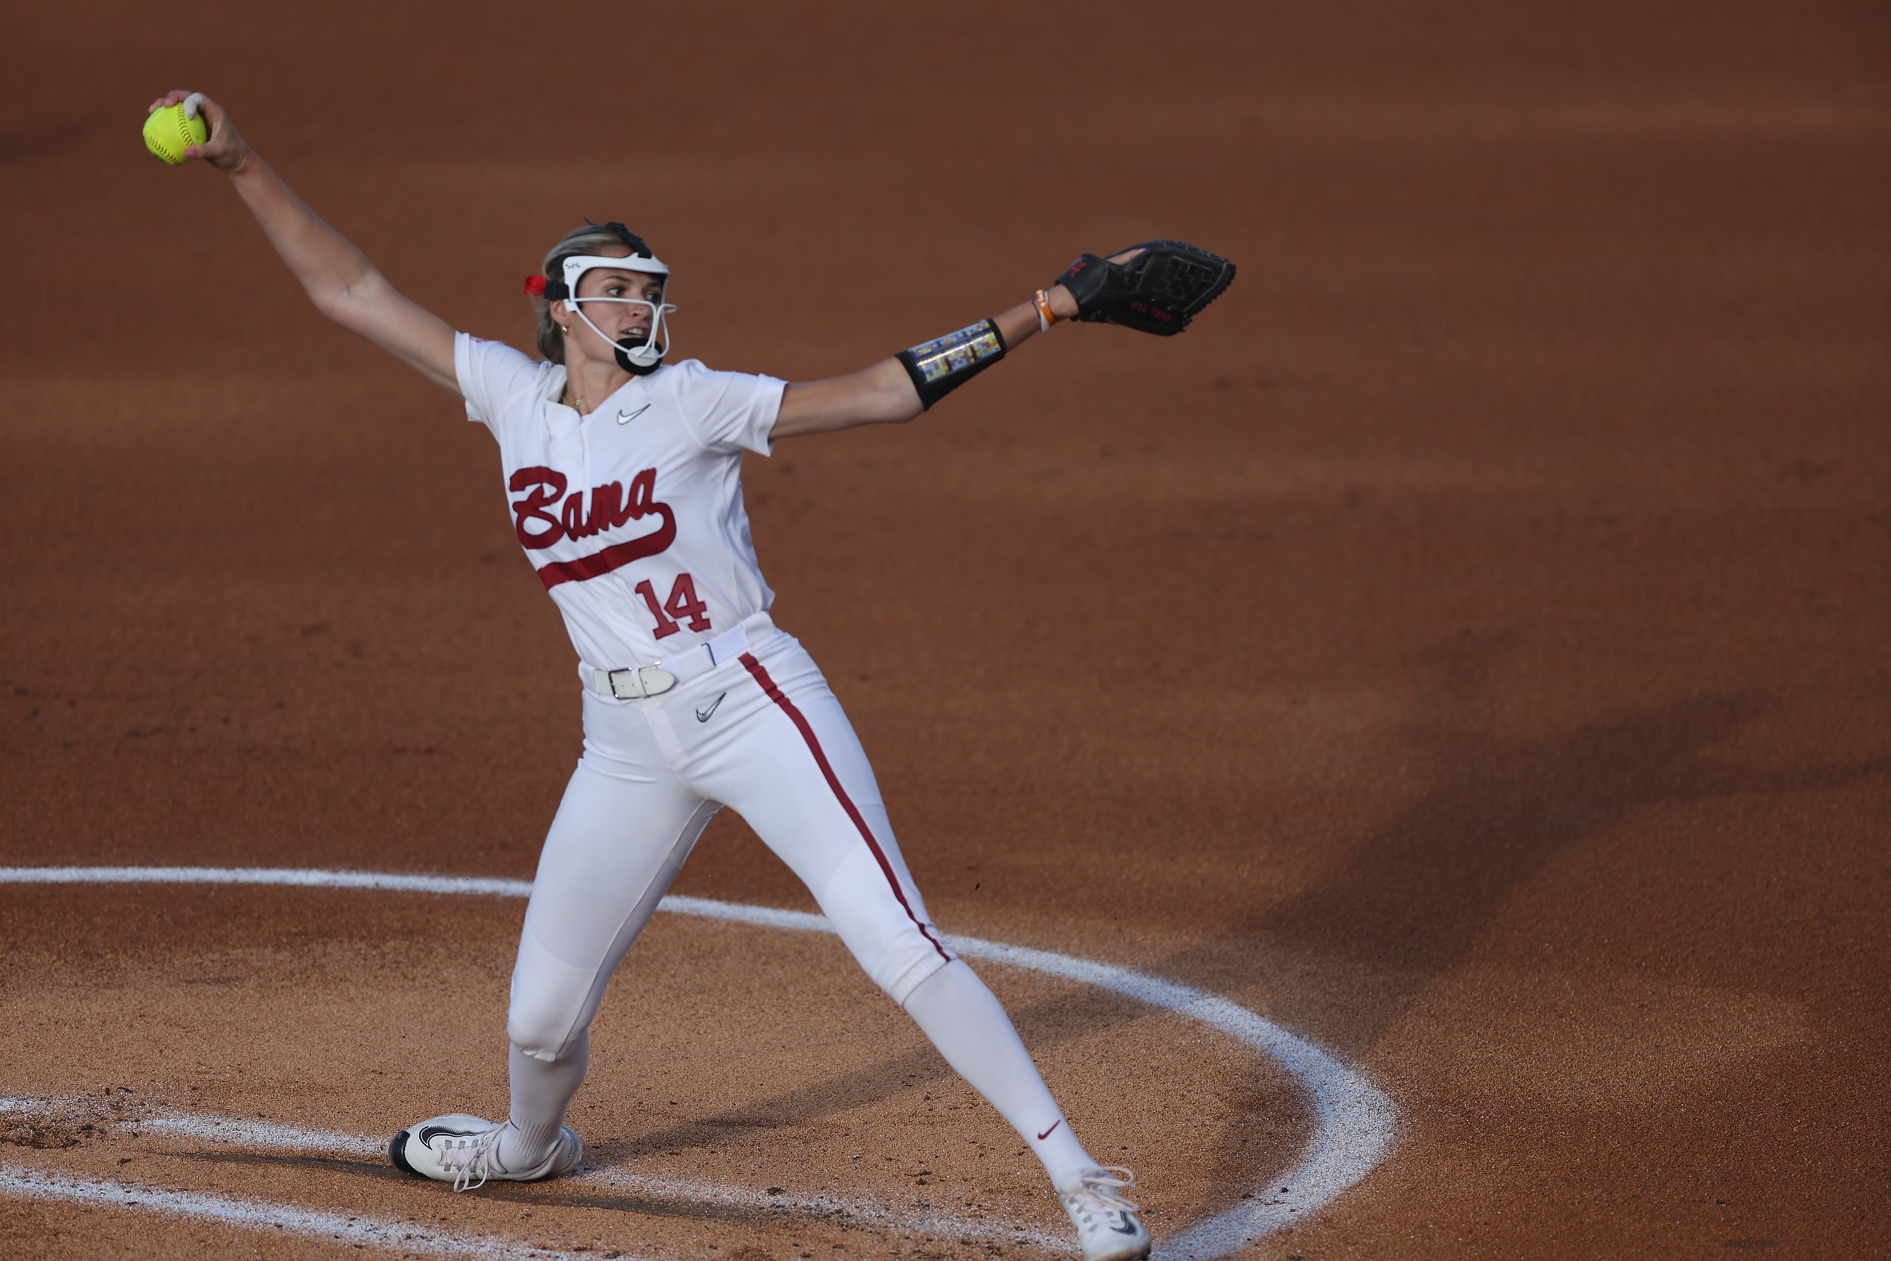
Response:
POLYGON ((821 669, 766 618, 751 626, 747 652, 662 696, 584 694, 584 756, 545 839, 512 968, 518 1134, 507 1134, 501 1163, 526 1166, 556 1142, 611 974, 728 805, 1053 1180, 1089 1165, 1004 1008, 927 917, 866 751, 821 669))

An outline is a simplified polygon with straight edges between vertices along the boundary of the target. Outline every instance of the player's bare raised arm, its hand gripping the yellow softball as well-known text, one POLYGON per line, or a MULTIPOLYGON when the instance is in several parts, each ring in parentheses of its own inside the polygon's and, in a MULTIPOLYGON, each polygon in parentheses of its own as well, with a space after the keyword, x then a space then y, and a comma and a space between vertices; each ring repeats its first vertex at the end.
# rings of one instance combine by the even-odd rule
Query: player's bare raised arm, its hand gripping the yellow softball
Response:
MULTIPOLYGON (((189 93, 166 93, 151 110, 174 106, 189 93)), ((202 98, 210 138, 183 151, 231 178, 236 195, 263 225, 269 244, 303 282, 323 316, 365 337, 435 386, 460 393, 454 374, 454 331, 433 312, 403 297, 367 255, 316 217, 289 185, 244 144, 223 106, 202 98)))

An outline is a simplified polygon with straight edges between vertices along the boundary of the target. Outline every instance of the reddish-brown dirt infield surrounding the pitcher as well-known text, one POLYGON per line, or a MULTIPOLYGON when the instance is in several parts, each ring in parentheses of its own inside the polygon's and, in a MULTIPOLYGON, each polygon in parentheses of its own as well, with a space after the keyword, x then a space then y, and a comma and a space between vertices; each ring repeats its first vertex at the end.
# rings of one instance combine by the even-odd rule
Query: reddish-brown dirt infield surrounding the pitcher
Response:
MULTIPOLYGON (((529 879, 579 752, 490 437, 142 153, 161 91, 516 344, 581 216, 675 268, 683 355, 800 380, 1180 236, 1240 267, 1186 337, 1059 327, 745 467, 942 926, 1392 1098, 1242 1255, 1891 1255, 1882 6, 545 13, 15 17, 0 866, 529 879)), ((811 909, 728 817, 675 892, 811 909)), ((395 1174, 503 1110, 520 911, 0 885, 0 1253, 1067 1255, 832 940, 688 917, 582 1178, 395 1174)), ((980 968, 1157 1257, 1316 1140, 1282 1062, 980 968)))

